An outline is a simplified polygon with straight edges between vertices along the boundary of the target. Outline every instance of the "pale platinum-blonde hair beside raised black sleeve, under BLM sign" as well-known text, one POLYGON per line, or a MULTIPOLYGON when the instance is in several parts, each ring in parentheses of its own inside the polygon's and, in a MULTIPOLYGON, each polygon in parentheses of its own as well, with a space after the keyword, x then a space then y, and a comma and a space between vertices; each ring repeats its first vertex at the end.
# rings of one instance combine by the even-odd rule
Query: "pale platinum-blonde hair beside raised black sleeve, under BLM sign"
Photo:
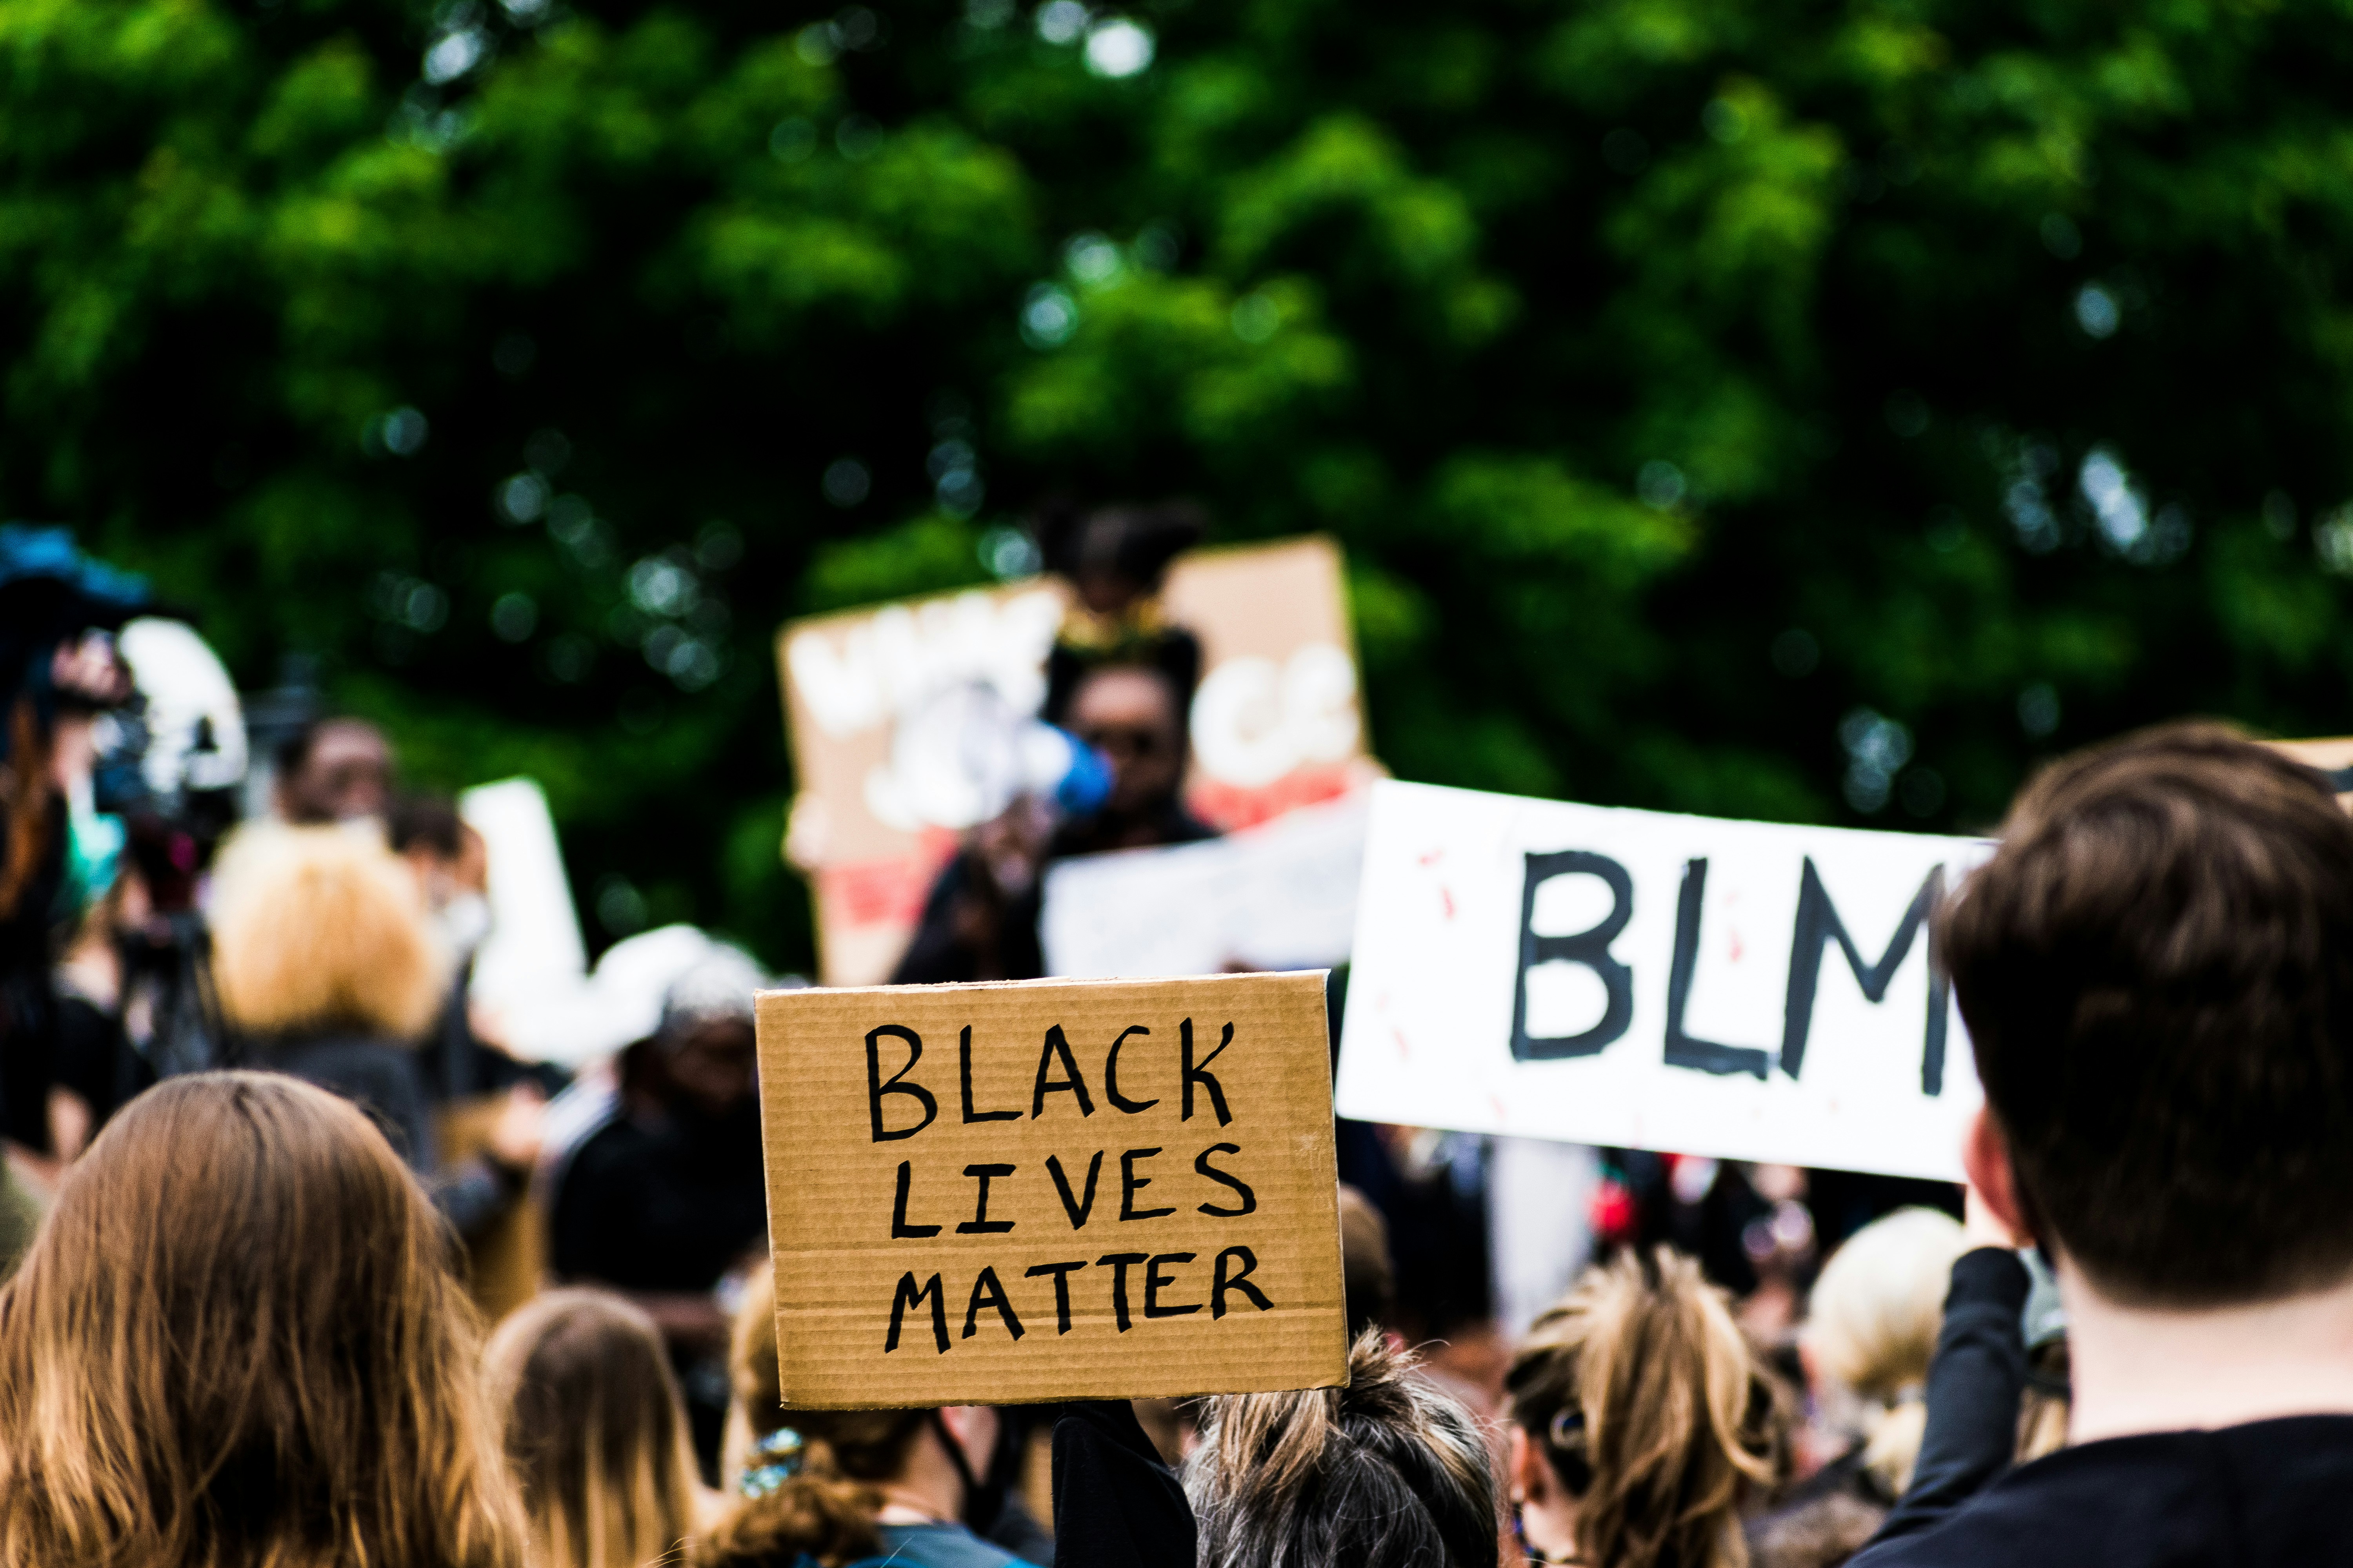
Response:
POLYGON ((1944 1326, 1953 1260, 1967 1251, 1960 1220, 1899 1208, 1847 1237, 1814 1281, 1805 1347, 1817 1371, 1868 1403, 1864 1469, 1901 1497, 1927 1427, 1922 1385, 1944 1326))

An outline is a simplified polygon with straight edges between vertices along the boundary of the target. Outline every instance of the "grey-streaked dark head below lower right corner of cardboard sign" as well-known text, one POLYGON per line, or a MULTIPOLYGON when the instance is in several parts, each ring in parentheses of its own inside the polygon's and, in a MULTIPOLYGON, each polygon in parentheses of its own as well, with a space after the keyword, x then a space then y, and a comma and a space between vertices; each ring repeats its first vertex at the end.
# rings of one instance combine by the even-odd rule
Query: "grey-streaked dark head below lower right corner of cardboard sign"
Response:
POLYGON ((1471 1413, 1365 1333, 1348 1387, 1224 1394, 1186 1462, 1202 1568, 1494 1568, 1494 1469, 1471 1413))

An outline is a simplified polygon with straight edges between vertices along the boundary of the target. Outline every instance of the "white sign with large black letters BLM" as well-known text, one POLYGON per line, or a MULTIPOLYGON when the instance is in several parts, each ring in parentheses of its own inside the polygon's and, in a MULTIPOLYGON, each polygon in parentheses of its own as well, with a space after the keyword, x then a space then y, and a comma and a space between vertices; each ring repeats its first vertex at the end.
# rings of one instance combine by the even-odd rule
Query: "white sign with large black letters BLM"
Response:
POLYGON ((1374 785, 1339 1112, 1960 1180, 1927 917, 1986 853, 1374 785))

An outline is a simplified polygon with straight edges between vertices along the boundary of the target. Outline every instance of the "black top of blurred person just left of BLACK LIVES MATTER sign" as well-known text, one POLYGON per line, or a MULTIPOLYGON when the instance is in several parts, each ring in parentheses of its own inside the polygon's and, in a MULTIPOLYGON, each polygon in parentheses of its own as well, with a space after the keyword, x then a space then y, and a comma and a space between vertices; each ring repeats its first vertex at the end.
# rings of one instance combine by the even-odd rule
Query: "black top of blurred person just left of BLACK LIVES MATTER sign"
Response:
POLYGON ((551 1262, 621 1291, 708 1291, 767 1234, 760 1105, 718 1121, 624 1114, 572 1157, 551 1262))

